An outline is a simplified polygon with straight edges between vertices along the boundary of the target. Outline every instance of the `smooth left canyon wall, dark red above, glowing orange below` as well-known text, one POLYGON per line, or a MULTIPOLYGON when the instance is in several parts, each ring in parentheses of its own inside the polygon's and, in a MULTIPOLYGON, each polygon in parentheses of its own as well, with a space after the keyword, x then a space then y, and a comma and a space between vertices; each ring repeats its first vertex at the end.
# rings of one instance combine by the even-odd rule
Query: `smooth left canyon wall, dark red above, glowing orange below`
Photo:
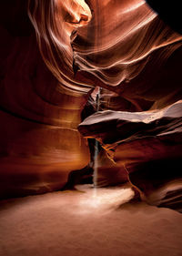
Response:
POLYGON ((0 197, 60 189, 89 162, 77 131, 87 96, 72 95, 45 67, 26 1, 15 2, 1 2, 0 197))

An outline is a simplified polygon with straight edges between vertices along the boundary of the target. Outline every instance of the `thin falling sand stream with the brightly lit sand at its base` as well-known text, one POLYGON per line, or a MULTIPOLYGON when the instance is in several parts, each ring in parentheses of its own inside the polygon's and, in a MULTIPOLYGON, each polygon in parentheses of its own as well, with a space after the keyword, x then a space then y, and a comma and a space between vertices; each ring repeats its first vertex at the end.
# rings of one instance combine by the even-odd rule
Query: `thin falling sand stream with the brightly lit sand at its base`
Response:
MULTIPOLYGON (((100 110, 100 93, 101 88, 97 87, 96 91, 96 112, 100 110)), ((115 210, 119 205, 126 203, 134 197, 134 191, 131 186, 117 186, 112 188, 98 188, 98 153, 99 142, 95 141, 94 164, 93 164, 93 184, 77 185, 76 189, 86 192, 85 197, 80 200, 80 206, 85 211, 95 212, 100 210, 115 210)))

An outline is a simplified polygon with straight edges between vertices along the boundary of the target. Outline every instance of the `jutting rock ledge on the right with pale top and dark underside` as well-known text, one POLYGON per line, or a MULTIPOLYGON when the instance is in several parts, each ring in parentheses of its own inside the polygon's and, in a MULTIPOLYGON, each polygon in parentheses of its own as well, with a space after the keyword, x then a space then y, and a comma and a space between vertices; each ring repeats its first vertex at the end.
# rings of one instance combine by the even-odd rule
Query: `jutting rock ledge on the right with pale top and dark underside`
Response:
MULTIPOLYGON (((107 110, 86 118, 79 130, 102 143, 120 171, 127 171, 143 199, 160 204, 169 192, 168 204, 181 210, 181 111, 181 101, 155 111, 107 110)), ((167 200, 164 203, 167 205, 167 200)))

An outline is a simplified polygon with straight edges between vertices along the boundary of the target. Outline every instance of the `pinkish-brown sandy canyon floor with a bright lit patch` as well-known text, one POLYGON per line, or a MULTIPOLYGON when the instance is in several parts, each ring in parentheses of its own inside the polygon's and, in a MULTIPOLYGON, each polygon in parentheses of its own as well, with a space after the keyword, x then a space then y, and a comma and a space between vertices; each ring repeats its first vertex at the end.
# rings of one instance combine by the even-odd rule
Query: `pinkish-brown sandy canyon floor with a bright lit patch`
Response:
POLYGON ((83 190, 2 201, 0 255, 182 255, 180 213, 125 203, 127 188, 83 190))

